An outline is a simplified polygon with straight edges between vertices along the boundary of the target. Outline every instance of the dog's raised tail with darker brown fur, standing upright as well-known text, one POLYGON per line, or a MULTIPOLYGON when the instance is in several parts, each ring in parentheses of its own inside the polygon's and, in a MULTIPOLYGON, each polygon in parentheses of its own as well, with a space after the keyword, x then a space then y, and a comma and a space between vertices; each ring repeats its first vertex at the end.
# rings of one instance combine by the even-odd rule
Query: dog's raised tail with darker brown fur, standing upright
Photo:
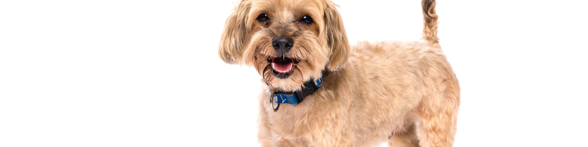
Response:
POLYGON ((420 3, 423 6, 423 39, 431 44, 439 44, 437 38, 437 18, 435 14, 435 0, 422 0, 420 3))

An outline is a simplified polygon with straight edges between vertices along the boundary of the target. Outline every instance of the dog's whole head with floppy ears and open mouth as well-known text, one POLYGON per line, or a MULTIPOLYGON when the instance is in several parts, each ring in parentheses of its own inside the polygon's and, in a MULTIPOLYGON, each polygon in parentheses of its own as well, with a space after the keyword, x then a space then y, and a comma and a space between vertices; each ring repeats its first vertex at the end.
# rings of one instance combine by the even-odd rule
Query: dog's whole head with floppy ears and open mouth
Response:
POLYGON ((299 90, 347 62, 349 42, 335 6, 329 0, 243 0, 226 20, 219 56, 255 67, 273 88, 299 90))

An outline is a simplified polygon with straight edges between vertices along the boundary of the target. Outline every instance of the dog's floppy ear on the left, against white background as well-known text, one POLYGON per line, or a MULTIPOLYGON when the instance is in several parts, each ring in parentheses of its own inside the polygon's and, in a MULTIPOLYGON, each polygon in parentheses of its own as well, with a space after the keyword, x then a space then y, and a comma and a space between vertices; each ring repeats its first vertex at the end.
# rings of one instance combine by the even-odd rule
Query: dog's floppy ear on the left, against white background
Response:
POLYGON ((225 22, 219 42, 219 57, 227 64, 240 64, 246 39, 246 18, 250 4, 239 2, 225 22))

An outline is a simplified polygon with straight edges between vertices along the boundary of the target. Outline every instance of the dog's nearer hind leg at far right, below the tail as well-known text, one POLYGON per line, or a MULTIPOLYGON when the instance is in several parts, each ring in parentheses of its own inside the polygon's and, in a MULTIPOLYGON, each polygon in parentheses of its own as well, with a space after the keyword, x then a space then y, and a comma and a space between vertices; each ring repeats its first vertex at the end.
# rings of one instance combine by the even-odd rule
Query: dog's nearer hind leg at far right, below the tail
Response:
POLYGON ((419 145, 452 146, 459 109, 459 83, 450 68, 426 78, 430 89, 416 109, 419 145))

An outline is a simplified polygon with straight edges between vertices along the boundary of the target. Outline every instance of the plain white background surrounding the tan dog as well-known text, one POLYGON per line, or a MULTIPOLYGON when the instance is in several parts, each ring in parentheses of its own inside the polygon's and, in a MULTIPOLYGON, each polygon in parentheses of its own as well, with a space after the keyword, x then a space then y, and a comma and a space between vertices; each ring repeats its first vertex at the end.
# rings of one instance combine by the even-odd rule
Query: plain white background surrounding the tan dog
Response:
MULTIPOLYGON (((335 1, 348 38, 420 38, 420 1, 335 1)), ((455 146, 585 146, 586 1, 438 1, 455 146)), ((232 1, 0 1, 0 146, 258 146, 232 1)))

